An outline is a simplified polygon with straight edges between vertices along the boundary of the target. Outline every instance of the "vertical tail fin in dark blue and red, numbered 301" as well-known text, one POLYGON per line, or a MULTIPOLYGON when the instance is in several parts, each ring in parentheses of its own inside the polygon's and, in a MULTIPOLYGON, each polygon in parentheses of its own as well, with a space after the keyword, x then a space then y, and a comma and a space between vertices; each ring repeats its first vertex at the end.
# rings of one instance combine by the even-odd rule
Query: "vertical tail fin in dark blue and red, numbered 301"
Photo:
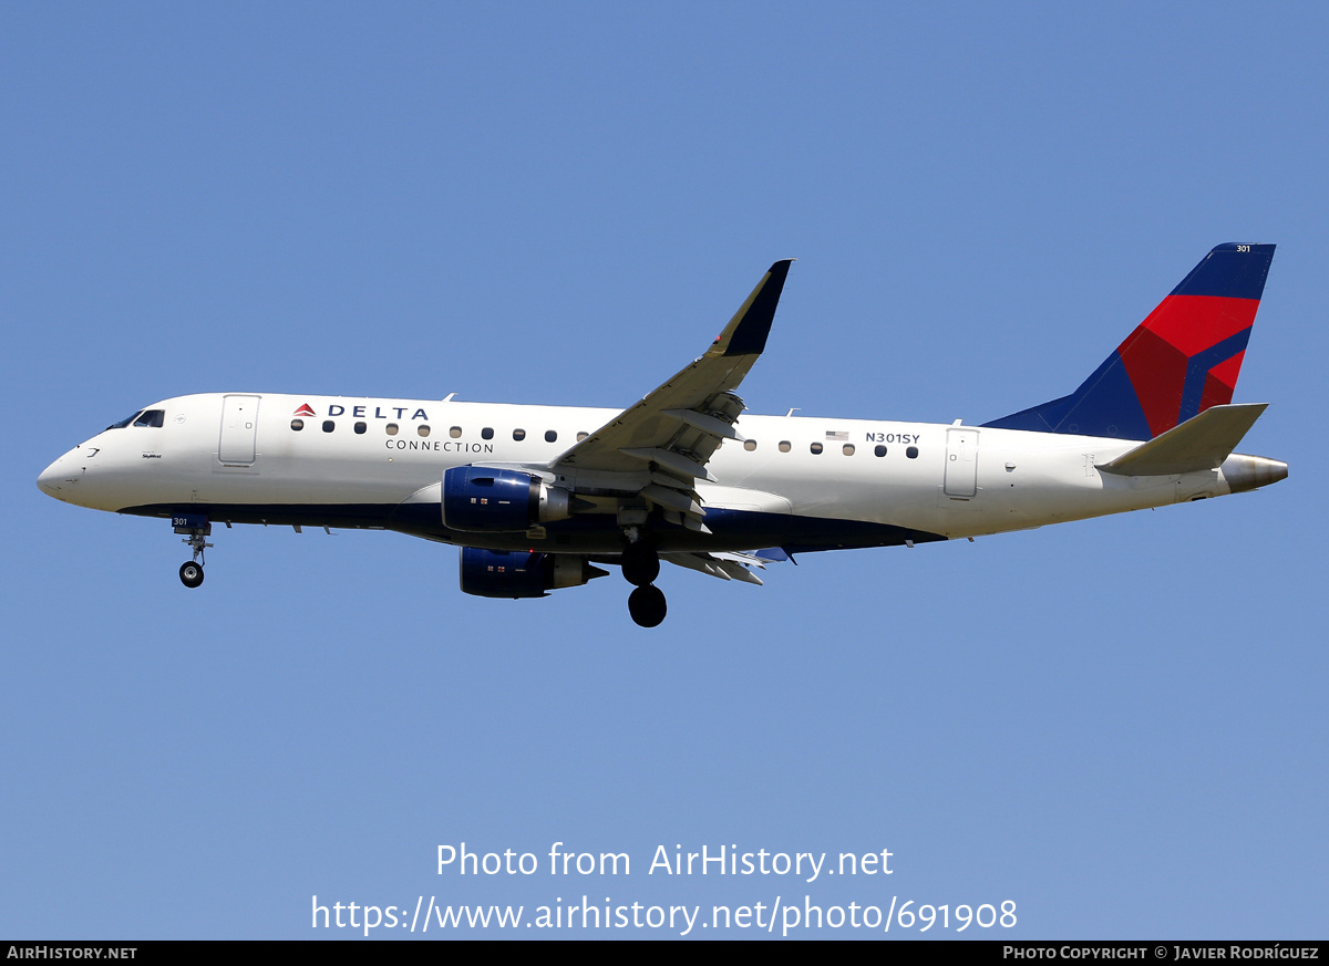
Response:
POLYGON ((983 426, 1152 439, 1232 402, 1273 248, 1219 245, 1079 389, 983 426))

